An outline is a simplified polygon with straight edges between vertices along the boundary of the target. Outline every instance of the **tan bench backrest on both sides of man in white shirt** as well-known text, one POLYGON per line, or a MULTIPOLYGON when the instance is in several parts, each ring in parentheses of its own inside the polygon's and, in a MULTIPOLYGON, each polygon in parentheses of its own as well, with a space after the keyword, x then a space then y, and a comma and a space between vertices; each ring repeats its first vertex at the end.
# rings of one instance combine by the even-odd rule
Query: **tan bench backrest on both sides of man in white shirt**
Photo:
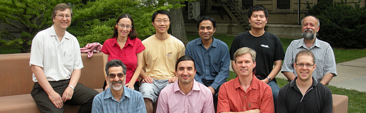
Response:
MULTIPOLYGON (((83 86, 92 89, 103 87, 105 78, 102 54, 94 53, 92 58, 87 58, 86 53, 81 54, 84 68, 81 69, 79 83, 83 86)), ((0 55, 0 97, 31 93, 34 81, 29 67, 29 56, 30 53, 0 55)))

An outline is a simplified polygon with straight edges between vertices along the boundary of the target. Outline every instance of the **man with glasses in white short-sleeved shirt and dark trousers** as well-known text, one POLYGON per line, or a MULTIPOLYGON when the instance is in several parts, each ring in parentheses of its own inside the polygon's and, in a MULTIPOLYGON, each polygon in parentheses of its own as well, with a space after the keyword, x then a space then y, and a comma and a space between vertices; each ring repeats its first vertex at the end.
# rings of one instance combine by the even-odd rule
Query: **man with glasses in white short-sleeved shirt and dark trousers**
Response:
POLYGON ((79 112, 92 112, 97 91, 78 83, 83 64, 80 45, 66 29, 73 16, 61 3, 52 10, 53 25, 32 41, 31 65, 35 82, 31 95, 42 112, 64 112, 64 103, 81 105, 79 112))

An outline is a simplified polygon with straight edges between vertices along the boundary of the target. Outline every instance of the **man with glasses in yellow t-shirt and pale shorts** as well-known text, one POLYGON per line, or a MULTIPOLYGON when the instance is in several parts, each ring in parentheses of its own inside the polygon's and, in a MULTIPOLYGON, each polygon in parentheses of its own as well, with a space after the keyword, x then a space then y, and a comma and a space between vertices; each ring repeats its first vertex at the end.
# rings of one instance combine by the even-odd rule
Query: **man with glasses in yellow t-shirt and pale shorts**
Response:
POLYGON ((170 14, 159 10, 151 17, 156 34, 142 41, 143 53, 140 92, 144 97, 146 111, 153 112, 160 91, 177 80, 175 63, 185 54, 185 46, 179 39, 168 34, 170 14))

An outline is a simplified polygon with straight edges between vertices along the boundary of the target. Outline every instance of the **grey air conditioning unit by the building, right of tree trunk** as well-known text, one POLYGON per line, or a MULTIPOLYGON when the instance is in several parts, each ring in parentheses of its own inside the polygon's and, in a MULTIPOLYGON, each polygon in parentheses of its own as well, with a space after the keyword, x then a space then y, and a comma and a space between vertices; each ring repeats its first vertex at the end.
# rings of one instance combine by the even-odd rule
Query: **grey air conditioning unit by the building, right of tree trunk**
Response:
POLYGON ((197 19, 201 15, 200 2, 188 3, 188 19, 197 19))

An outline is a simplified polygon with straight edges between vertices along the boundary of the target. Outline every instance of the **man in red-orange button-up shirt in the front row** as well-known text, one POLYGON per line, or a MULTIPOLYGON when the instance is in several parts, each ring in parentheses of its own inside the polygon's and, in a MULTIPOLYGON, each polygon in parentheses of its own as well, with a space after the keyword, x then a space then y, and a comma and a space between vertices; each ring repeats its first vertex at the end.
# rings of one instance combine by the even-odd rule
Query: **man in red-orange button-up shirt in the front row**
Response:
POLYGON ((218 112, 275 112, 272 90, 253 74, 256 52, 242 47, 234 53, 237 77, 222 84, 218 112))

